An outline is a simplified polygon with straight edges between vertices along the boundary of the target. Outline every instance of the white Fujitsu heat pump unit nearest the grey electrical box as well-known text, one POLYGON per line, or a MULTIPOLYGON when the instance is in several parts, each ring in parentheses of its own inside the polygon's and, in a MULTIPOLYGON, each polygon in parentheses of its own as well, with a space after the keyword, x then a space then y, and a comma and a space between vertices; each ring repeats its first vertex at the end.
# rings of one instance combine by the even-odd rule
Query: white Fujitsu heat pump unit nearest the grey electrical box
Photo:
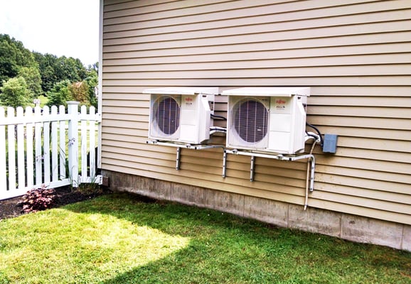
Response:
POLYGON ((304 150, 309 88, 245 87, 228 95, 228 148, 295 154, 304 150))

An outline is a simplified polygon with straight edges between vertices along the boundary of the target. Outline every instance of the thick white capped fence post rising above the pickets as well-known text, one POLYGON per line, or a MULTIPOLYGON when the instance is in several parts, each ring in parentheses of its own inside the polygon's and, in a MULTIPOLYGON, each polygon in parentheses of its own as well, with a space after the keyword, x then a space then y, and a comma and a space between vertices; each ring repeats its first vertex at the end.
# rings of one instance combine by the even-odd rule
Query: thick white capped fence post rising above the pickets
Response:
POLYGON ((68 114, 68 171, 71 185, 78 187, 78 105, 79 102, 67 102, 68 114))

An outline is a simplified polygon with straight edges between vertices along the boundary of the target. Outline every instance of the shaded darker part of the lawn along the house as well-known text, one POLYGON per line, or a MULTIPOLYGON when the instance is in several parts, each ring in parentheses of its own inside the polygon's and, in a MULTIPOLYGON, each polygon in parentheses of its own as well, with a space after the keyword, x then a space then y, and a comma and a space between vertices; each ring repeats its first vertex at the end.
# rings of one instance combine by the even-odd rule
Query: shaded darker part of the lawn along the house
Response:
POLYGON ((104 283, 410 283, 411 253, 277 228, 136 195, 65 207, 190 238, 184 249, 104 283))

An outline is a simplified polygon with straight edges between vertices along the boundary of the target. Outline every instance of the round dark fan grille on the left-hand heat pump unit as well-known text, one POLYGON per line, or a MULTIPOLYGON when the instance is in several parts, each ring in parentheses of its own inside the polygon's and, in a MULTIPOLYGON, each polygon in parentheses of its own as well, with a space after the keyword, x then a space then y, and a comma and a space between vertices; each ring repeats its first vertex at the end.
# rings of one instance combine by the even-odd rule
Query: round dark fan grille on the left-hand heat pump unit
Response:
POLYGON ((180 106, 173 97, 161 97, 154 106, 156 126, 166 135, 174 134, 180 125, 180 106))

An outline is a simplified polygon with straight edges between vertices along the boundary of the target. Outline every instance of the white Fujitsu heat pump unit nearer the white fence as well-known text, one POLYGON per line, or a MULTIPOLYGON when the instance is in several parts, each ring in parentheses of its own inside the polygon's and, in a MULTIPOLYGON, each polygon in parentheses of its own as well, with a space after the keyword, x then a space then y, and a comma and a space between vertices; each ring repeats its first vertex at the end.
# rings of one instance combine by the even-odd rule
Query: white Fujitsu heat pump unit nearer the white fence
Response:
POLYGON ((210 138, 215 87, 146 89, 150 94, 149 138, 200 144, 210 138))

